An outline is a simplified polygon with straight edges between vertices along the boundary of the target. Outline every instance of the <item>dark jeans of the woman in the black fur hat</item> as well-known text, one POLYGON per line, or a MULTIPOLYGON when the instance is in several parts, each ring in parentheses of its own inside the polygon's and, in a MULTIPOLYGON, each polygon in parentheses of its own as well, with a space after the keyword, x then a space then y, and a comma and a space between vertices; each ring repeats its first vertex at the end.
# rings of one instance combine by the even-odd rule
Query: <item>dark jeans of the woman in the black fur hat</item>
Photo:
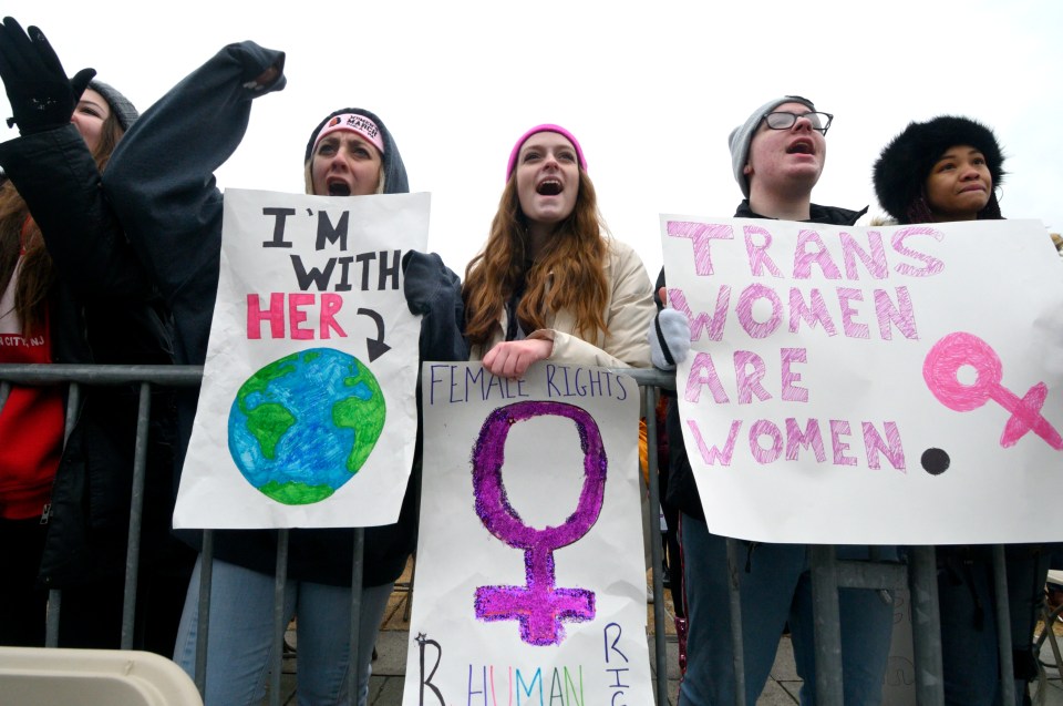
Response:
MULTIPOLYGON (((1013 659, 1031 664, 1033 628, 1049 573, 1051 546, 1004 548, 1013 659)), ((938 601, 941 616, 941 666, 945 703, 956 706, 1001 704, 997 605, 990 546, 938 549, 938 601)), ((1030 703, 1029 674, 1015 678, 1015 706, 1030 703)))

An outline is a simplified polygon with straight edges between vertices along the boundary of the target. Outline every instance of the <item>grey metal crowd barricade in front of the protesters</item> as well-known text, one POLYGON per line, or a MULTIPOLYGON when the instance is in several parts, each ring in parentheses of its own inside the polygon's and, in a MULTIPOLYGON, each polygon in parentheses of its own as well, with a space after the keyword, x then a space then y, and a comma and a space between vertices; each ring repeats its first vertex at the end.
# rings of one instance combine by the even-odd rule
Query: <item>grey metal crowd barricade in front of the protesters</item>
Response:
MULTIPOLYGON (((650 507, 660 508, 657 462, 657 400, 660 389, 674 389, 674 376, 658 370, 622 369, 632 376, 643 390, 643 413, 647 423, 648 465, 650 480, 650 507)), ((147 449, 147 428, 151 412, 152 386, 196 387, 203 376, 199 366, 91 366, 91 365, 0 365, 0 410, 7 401, 11 385, 58 385, 69 383, 66 434, 75 421, 74 413, 80 405, 83 386, 114 386, 130 382, 140 383, 140 409, 135 463, 133 470, 133 495, 130 509, 130 532, 126 553, 125 595, 122 617, 121 647, 133 646, 134 612, 136 606, 137 567, 140 561, 140 539, 142 524, 143 490, 147 449)), ((661 563, 661 543, 650 543, 653 562, 653 620, 654 657, 657 664, 656 694, 659 705, 668 704, 667 636, 663 601, 663 577, 658 570, 661 563)), ((275 584, 275 631, 274 664, 271 665, 270 703, 280 704, 280 675, 283 635, 287 625, 283 615, 283 593, 288 563, 288 532, 279 531, 277 551, 277 573, 275 584)), ((359 644, 359 614, 361 606, 362 562, 361 553, 364 535, 355 530, 354 569, 351 576, 351 668, 350 694, 357 694, 357 668, 359 644)), ((204 532, 203 561, 200 569, 199 631, 197 633, 196 686, 200 694, 206 684, 207 640, 210 611, 211 562, 214 556, 211 531, 204 532)), ((874 561, 838 561, 834 546, 811 546, 809 561, 813 576, 813 604, 815 616, 816 644, 816 690, 818 703, 827 706, 843 704, 842 690, 842 647, 838 611, 838 589, 859 587, 889 590, 907 585, 911 591, 912 635, 916 666, 916 694, 918 703, 928 706, 943 704, 941 679, 941 635, 938 616, 937 567, 933 546, 908 548, 907 564, 874 561)), ((730 610, 732 615, 732 638, 735 654, 735 694, 736 704, 745 703, 745 677, 743 664, 741 600, 739 582, 741 562, 737 557, 736 541, 727 541, 727 572, 730 585, 730 610)), ((1004 703, 1014 700, 1012 674, 1012 651, 1010 621, 1008 620, 1007 576, 1004 573, 1003 546, 993 549, 993 575, 997 589, 998 640, 1000 644, 1000 669, 1004 703)), ((61 591, 51 591, 49 595, 47 646, 59 644, 59 622, 61 617, 61 591)))

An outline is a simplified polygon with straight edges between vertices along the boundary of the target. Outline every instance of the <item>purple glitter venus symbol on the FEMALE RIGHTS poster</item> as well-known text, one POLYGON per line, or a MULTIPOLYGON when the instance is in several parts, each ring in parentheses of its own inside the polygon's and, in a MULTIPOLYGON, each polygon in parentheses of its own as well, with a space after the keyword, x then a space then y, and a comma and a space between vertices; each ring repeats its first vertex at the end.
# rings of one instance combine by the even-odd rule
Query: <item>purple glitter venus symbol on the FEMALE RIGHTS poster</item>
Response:
POLYGON ((563 402, 524 401, 493 411, 473 449, 473 494, 476 514, 487 531, 514 549, 524 550, 526 586, 479 586, 476 617, 486 622, 518 621, 520 640, 530 645, 558 645, 565 638, 561 622, 591 621, 595 593, 555 586, 554 550, 572 544, 590 531, 606 489, 606 448, 594 418, 563 402), (576 423, 584 452, 584 487, 576 511, 559 526, 529 528, 506 497, 502 482, 506 438, 518 421, 536 417, 566 417, 576 423))

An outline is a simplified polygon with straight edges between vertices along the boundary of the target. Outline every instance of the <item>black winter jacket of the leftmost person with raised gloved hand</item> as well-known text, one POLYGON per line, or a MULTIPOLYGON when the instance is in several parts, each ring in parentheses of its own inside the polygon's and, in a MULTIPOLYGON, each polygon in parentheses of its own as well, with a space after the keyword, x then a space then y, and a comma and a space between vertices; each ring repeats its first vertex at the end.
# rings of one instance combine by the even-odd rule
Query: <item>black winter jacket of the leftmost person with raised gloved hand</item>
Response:
MULTIPOLYGON (((0 144, 55 268, 49 295, 52 357, 63 364, 173 362, 169 317, 122 234, 100 172, 73 125, 0 144)), ((51 589, 125 571, 138 392, 83 387, 55 474, 41 581, 51 589)), ((153 392, 142 565, 169 560, 175 484, 174 401, 153 392)), ((185 562, 187 563, 187 562, 185 562)))

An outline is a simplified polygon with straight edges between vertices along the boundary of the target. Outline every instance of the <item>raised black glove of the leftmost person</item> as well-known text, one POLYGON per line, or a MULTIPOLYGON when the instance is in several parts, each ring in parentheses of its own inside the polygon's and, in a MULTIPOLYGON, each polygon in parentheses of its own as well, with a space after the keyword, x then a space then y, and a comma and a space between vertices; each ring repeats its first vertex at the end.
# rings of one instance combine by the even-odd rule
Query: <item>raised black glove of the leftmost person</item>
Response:
POLYGON ((8 126, 18 123, 20 134, 31 135, 70 123, 94 75, 95 69, 82 69, 68 79, 41 30, 31 27, 27 34, 10 17, 0 24, 0 79, 14 113, 8 126))

